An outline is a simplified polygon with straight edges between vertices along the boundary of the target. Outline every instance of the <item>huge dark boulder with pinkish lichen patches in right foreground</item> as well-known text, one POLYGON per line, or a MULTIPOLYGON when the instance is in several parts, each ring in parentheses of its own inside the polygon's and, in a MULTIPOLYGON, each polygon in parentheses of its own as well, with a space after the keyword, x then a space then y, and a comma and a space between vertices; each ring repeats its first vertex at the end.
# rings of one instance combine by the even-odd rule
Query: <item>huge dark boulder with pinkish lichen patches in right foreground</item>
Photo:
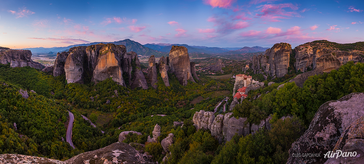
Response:
MULTIPOLYGON (((345 131, 353 122, 364 116, 364 93, 352 93, 337 101, 328 101, 318 108, 308 130, 292 144, 289 154, 300 152, 321 153, 321 157, 292 157, 287 164, 315 163, 323 164, 327 159, 322 157, 335 148, 340 136, 345 138, 345 131)), ((357 123, 359 124, 359 123, 357 123)), ((348 140, 350 140, 348 138, 348 140)), ((341 140, 338 148, 346 144, 341 140)), ((343 147, 344 148, 344 147, 343 147)), ((349 149, 349 148, 348 148, 349 149)))

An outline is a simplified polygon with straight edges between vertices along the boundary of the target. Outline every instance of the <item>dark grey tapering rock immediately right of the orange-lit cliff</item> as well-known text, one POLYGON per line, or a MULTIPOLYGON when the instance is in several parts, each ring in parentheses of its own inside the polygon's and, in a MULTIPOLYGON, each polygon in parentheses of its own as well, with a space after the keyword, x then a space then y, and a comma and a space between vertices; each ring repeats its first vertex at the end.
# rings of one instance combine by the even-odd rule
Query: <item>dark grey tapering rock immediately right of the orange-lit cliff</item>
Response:
POLYGON ((128 73, 128 81, 131 89, 134 89, 136 87, 148 89, 148 84, 143 74, 137 53, 132 51, 126 53, 126 57, 123 58, 122 68, 124 72, 128 73))

